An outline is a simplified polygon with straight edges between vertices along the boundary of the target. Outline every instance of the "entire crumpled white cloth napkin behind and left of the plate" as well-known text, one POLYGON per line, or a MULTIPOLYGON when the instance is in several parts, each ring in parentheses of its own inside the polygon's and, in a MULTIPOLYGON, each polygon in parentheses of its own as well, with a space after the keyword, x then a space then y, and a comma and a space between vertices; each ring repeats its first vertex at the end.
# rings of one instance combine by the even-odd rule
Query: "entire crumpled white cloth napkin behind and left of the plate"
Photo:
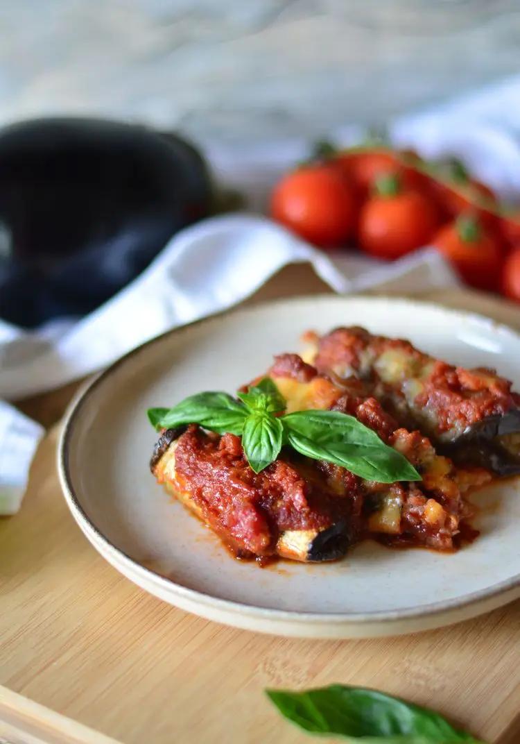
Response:
MULTIPOLYGON (((501 196, 512 198, 520 194, 519 100, 520 78, 397 121, 391 138, 428 157, 458 155, 501 196)), ((355 131, 333 135, 348 144, 355 131)), ((272 143, 238 153, 210 147, 209 159, 218 178, 241 188, 251 207, 261 209, 276 177, 307 147, 272 143)), ((34 333, 0 321, 0 397, 14 400, 103 368, 164 330, 232 307, 282 266, 302 262, 311 263, 337 292, 374 286, 406 292, 457 283, 431 249, 378 263, 354 252, 316 251, 259 215, 217 217, 178 234, 139 278, 81 321, 54 322, 34 333)), ((41 427, 0 403, 0 513, 18 508, 41 436, 41 427)))

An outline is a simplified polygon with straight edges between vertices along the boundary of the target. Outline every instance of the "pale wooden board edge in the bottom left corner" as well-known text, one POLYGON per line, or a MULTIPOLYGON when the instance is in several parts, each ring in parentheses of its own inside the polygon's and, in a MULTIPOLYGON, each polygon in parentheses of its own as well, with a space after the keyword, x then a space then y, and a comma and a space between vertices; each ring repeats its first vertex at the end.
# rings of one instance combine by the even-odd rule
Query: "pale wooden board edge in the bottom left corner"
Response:
POLYGON ((7 744, 121 744, 0 685, 0 742, 7 744))

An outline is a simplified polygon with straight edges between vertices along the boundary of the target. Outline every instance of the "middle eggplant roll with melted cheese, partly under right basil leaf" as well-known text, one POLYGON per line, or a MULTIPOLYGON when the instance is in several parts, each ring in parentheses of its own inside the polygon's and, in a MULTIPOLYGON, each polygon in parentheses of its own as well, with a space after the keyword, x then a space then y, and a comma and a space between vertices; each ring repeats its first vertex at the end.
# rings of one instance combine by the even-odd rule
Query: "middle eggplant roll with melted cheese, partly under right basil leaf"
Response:
MULTIPOLYGON (((285 397, 288 413, 325 408, 354 416, 420 472, 420 483, 394 484, 364 481, 349 474, 357 481, 360 506, 354 512, 360 510, 358 532, 362 536, 394 545, 452 551, 463 538, 474 535, 468 525, 472 507, 464 497, 491 480, 487 469, 455 466, 449 457, 437 452, 422 432, 400 426, 382 403, 367 392, 365 383, 355 377, 348 382, 333 382, 296 354, 275 357, 268 375, 285 397)), ((319 467, 329 485, 345 482, 345 469, 326 463, 319 467)))

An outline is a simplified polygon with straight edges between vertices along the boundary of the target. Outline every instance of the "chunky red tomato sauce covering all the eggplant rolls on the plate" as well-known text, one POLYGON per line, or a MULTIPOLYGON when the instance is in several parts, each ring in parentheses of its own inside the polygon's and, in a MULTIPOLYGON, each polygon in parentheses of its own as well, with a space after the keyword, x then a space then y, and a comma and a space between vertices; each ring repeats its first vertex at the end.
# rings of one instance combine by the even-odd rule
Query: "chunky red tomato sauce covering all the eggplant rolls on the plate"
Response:
MULTIPOLYGON (((277 545, 288 533, 311 533, 312 542, 313 532, 317 539, 339 525, 346 525, 349 544, 372 536, 386 545, 448 552, 475 539, 478 532, 469 525, 473 509, 464 495, 489 482, 490 472, 467 464, 461 468, 439 455, 429 427, 436 434, 464 430, 518 407, 520 399, 511 393, 510 382, 492 370, 447 365, 420 353, 409 341, 371 336, 357 327, 310 340, 317 347, 316 366, 287 353, 276 356, 268 372, 280 390, 287 391, 287 402, 356 417, 408 458, 421 482, 365 481, 290 448, 255 473, 240 437, 218 436, 195 425, 163 432, 152 471, 160 470, 160 459, 175 446, 173 490, 189 496, 201 519, 235 557, 254 557, 263 564, 276 557, 277 545), (376 368, 385 354, 389 368, 376 368), (347 376, 342 377, 344 372, 347 376), (284 378, 290 384, 282 384, 284 378), (412 399, 401 388, 410 382, 412 399), (403 413, 403 401, 412 415, 403 413), (419 426, 414 425, 414 412, 419 426)), ((307 559, 305 539, 302 560, 307 559)))

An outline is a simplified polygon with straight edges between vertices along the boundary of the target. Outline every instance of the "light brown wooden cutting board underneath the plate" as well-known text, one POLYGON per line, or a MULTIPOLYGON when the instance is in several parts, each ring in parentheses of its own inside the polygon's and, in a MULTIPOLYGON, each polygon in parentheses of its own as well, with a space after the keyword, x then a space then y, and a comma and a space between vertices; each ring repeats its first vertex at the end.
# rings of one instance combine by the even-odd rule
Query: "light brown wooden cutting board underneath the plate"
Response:
MULTIPOLYGON (((306 271, 285 270, 262 296, 322 289, 306 271)), ((437 299, 520 327, 518 308, 484 295, 437 299)), ((49 422, 70 394, 23 407, 49 422)), ((186 615, 120 576, 79 532, 56 476, 57 433, 39 448, 22 510, 0 519, 0 742, 296 743, 304 737, 264 688, 330 682, 436 708, 493 744, 520 742, 520 602, 375 641, 274 638, 186 615)))

